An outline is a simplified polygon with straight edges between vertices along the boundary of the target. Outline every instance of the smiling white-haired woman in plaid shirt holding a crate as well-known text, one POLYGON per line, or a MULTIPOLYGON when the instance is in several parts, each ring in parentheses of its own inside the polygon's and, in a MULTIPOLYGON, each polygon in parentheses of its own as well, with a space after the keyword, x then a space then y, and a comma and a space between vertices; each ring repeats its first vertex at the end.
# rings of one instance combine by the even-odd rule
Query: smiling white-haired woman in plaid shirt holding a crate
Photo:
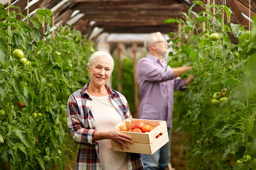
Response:
POLYGON ((67 103, 71 136, 80 144, 76 170, 143 170, 140 154, 113 151, 111 140, 121 149, 131 138, 113 128, 132 118, 128 102, 106 83, 113 71, 113 58, 105 51, 91 55, 87 64, 90 83, 73 93, 67 103), (110 140, 111 139, 111 140, 110 140))

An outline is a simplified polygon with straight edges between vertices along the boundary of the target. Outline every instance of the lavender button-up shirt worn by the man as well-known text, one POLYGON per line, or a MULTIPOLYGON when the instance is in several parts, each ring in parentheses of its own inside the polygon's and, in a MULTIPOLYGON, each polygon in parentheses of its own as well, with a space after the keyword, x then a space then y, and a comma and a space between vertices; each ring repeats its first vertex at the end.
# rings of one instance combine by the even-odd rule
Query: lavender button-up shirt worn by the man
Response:
POLYGON ((165 120, 172 127, 174 90, 185 91, 185 80, 174 79, 173 70, 166 60, 147 54, 137 65, 140 87, 140 119, 165 120))

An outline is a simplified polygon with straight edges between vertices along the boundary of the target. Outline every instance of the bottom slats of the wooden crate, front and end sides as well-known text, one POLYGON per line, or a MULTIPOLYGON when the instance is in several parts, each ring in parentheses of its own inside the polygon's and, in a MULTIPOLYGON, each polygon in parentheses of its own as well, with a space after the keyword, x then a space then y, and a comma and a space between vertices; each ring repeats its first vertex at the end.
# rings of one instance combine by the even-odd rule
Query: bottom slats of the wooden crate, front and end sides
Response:
POLYGON ((130 148, 127 149, 123 146, 123 150, 119 148, 119 146, 116 144, 116 142, 111 141, 112 150, 114 151, 120 151, 120 152, 130 152, 130 153, 142 153, 142 154, 149 154, 152 155, 155 153, 160 147, 162 147, 164 144, 169 142, 168 133, 164 133, 159 138, 157 138, 154 142, 151 144, 142 144, 142 143, 126 143, 130 148))

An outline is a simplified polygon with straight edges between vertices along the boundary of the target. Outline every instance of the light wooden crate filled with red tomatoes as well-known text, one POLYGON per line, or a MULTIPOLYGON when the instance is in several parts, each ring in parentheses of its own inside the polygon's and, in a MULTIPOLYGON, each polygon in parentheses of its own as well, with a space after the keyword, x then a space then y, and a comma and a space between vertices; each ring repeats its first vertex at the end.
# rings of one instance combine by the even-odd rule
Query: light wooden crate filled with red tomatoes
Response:
POLYGON ((120 152, 142 153, 142 154, 152 155, 160 147, 162 147, 164 144, 169 142, 166 121, 145 120, 145 119, 126 119, 124 122, 120 123, 119 125, 116 125, 116 127, 126 126, 128 127, 128 129, 130 129, 131 124, 133 124, 137 120, 141 120, 144 122, 144 124, 149 124, 156 127, 151 132, 146 132, 146 133, 120 131, 120 133, 124 133, 130 136, 133 144, 126 143, 130 148, 127 149, 126 147, 123 146, 123 150, 121 150, 119 146, 116 144, 116 142, 111 141, 112 150, 120 151, 120 152), (156 139, 156 136, 160 133, 162 135, 156 139))

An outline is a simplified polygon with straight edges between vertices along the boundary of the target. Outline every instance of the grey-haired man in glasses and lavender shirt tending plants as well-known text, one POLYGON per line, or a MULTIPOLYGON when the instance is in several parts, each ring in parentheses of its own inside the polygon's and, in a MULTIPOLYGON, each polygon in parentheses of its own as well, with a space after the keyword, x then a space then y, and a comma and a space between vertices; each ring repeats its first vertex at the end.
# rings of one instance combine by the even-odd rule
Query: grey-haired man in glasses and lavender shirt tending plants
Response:
POLYGON ((166 53, 168 42, 160 32, 150 34, 144 47, 148 54, 137 65, 140 87, 139 118, 166 121, 169 142, 153 155, 142 154, 142 160, 145 170, 168 170, 171 161, 173 94, 175 89, 185 91, 183 87, 193 81, 192 75, 186 80, 179 77, 193 66, 167 66, 163 54, 166 53))

